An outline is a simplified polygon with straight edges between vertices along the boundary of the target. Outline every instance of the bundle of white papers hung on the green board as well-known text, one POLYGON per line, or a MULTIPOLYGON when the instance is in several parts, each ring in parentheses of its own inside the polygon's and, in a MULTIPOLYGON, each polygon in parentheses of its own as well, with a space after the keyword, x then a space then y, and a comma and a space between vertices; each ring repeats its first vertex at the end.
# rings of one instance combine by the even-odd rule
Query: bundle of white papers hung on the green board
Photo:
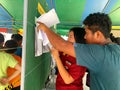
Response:
MULTIPOLYGON (((48 27, 51 27, 53 25, 60 23, 59 18, 55 12, 55 9, 51 9, 49 12, 42 14, 40 17, 36 19, 36 22, 42 22, 48 27)), ((37 26, 38 26, 38 23, 36 23, 36 27, 37 26)), ((47 35, 42 30, 39 30, 39 32, 35 34, 37 34, 35 35, 36 36, 35 39, 37 39, 35 40, 35 56, 40 56, 44 52, 49 52, 50 42, 47 38, 47 35)))

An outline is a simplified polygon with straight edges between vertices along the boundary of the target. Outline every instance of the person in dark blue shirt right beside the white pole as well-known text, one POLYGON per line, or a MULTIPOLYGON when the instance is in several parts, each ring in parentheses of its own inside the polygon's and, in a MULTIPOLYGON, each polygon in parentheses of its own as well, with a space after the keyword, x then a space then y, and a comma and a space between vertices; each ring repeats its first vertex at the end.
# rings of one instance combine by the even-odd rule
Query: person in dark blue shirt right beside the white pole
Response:
POLYGON ((17 41, 18 48, 15 52, 16 55, 22 57, 22 36, 20 34, 12 34, 11 39, 17 41))

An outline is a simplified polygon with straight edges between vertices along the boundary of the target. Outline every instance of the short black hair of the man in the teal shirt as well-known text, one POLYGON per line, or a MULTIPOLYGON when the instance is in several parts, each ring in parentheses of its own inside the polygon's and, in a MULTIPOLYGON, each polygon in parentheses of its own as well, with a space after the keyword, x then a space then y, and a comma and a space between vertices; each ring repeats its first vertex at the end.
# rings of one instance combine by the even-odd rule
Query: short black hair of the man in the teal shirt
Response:
POLYGON ((88 26, 93 33, 100 31, 103 33, 105 38, 110 37, 112 22, 108 14, 105 13, 93 13, 86 17, 83 21, 85 26, 88 26))

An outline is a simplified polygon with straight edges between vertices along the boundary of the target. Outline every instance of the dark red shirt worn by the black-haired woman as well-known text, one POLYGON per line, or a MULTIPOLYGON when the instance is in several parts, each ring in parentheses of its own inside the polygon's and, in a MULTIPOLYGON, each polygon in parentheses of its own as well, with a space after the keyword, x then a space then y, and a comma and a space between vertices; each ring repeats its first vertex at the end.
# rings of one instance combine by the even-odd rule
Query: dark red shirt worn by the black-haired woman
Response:
POLYGON ((65 84, 62 77, 58 73, 56 79, 56 90, 83 90, 82 78, 86 72, 86 68, 76 64, 76 59, 69 55, 60 53, 60 58, 66 70, 74 78, 71 84, 65 84))

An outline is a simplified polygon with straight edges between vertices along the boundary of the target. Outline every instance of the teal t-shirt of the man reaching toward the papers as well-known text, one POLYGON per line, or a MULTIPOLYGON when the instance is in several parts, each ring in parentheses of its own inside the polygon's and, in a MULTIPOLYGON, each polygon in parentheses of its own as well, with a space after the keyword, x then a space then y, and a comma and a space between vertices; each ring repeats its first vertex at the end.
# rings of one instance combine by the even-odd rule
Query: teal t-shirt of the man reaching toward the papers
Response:
POLYGON ((120 46, 117 44, 107 44, 103 46, 81 45, 80 47, 82 47, 81 51, 78 51, 78 48, 75 47, 77 52, 76 57, 80 65, 82 64, 89 69, 90 89, 119 90, 120 46), (82 53, 86 54, 83 55, 82 53), (90 56, 89 53, 91 53, 92 56, 90 56), (79 55, 85 59, 84 62, 79 55))

